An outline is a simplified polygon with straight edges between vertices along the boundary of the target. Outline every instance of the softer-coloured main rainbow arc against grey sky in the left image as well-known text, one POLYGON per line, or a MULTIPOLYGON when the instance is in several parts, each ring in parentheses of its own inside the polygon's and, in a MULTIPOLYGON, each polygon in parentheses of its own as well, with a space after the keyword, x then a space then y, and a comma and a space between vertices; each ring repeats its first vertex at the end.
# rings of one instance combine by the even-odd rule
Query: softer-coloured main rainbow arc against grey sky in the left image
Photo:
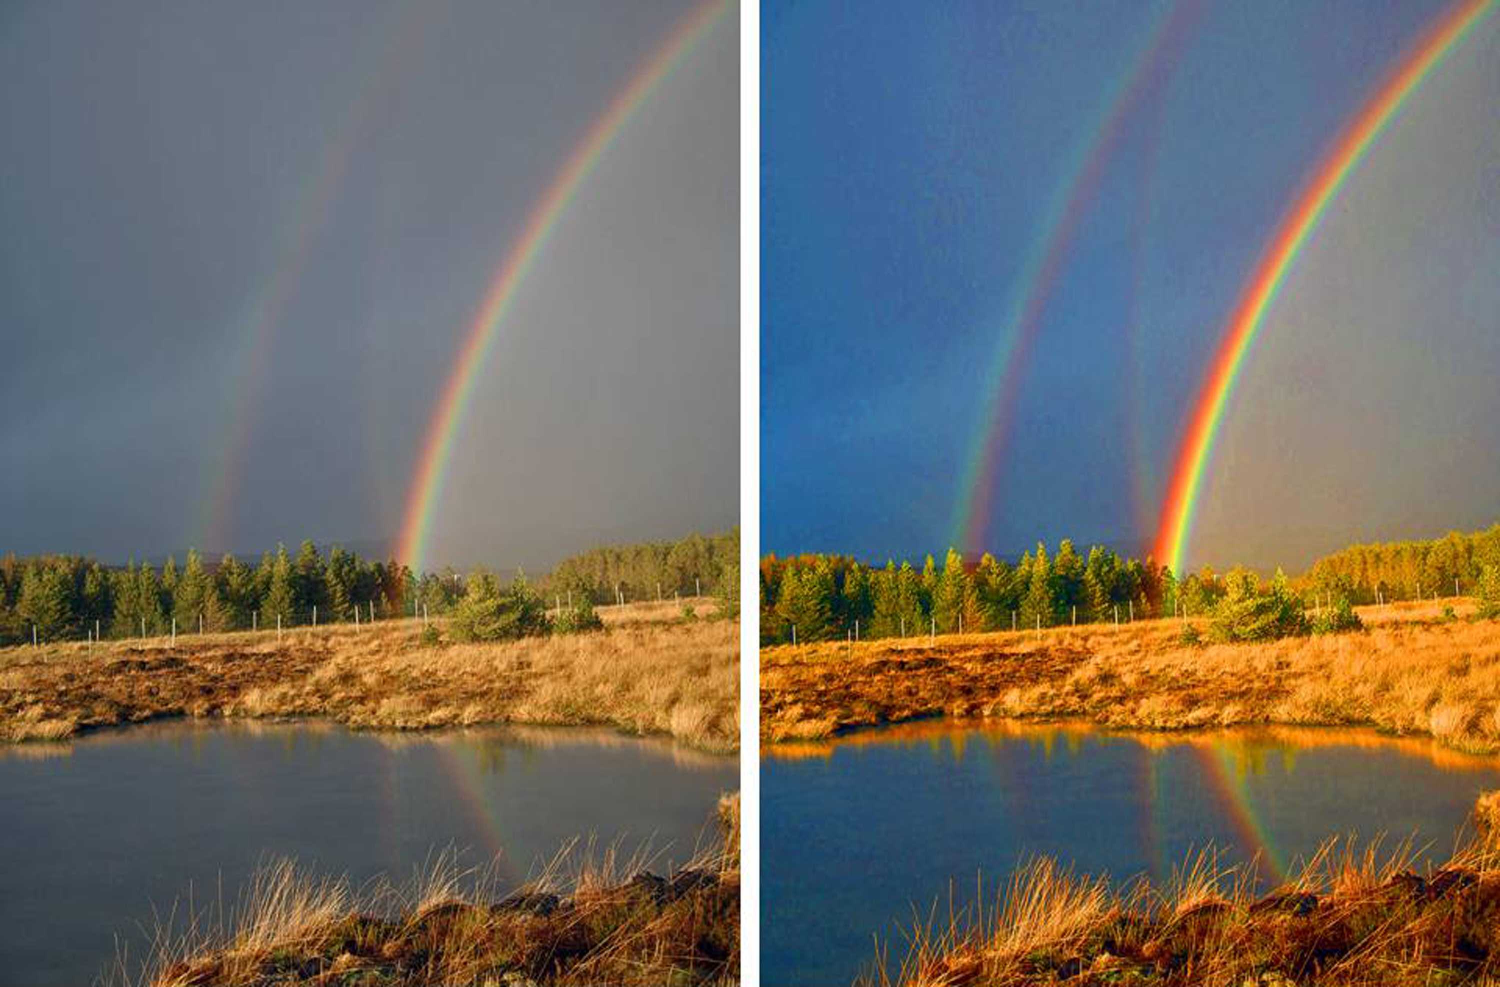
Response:
POLYGON ((642 63, 615 99, 594 120, 552 178, 542 198, 526 216, 520 237, 501 261, 470 326, 468 336, 440 393, 423 438, 417 476, 406 496, 405 519, 398 538, 396 558, 422 570, 432 512, 442 492, 448 458, 459 424, 474 393, 478 372, 495 342, 496 330, 506 320, 516 290, 526 279, 532 262, 546 246, 558 219, 573 201, 584 180, 594 171, 604 148, 624 128, 634 111, 656 92, 684 60, 688 51, 724 16, 729 0, 705 0, 672 30, 642 63))

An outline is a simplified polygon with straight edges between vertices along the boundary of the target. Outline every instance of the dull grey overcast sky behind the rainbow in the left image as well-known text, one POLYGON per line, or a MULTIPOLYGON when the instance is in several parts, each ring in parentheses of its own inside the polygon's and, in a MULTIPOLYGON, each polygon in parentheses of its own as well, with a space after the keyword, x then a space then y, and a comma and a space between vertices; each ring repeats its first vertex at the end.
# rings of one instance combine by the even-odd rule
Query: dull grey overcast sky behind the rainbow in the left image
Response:
MULTIPOLYGON (((0 9, 0 550, 393 546, 470 324, 686 0, 0 9)), ((514 296, 428 562, 738 518, 738 12, 514 296)))

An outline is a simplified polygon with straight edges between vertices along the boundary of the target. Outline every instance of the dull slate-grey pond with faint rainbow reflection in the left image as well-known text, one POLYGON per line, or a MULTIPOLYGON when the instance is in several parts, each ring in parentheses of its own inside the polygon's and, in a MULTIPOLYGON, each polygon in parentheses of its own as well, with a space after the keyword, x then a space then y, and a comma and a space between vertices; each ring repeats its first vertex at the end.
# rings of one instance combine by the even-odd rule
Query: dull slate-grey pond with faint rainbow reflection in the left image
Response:
POLYGON ((735 758, 600 730, 362 734, 174 722, 0 747, 0 984, 78 987, 142 958, 189 896, 232 912, 278 856, 354 886, 444 849, 519 882, 564 842, 650 843, 682 864, 735 758))

